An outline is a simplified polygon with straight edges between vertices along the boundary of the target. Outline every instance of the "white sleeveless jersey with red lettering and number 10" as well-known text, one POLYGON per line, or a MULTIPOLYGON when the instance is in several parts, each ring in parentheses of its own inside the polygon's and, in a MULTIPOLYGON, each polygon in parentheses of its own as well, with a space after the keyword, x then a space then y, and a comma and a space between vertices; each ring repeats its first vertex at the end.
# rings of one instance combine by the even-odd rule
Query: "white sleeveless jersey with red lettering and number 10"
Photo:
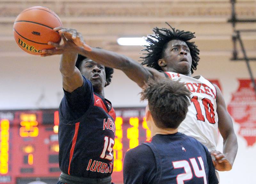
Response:
POLYGON ((191 104, 178 131, 195 138, 209 151, 216 150, 218 141, 216 88, 202 76, 195 79, 174 72, 165 72, 165 74, 172 80, 184 82, 191 92, 191 104))

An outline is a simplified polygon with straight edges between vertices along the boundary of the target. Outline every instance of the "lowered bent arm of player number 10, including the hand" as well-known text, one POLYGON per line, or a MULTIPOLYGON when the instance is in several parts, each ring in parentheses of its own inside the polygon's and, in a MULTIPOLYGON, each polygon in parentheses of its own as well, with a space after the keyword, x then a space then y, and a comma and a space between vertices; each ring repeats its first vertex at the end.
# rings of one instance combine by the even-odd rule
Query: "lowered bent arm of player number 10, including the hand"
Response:
POLYGON ((223 153, 212 151, 215 157, 213 164, 219 171, 229 171, 232 169, 237 153, 237 138, 233 128, 232 119, 227 111, 225 101, 220 88, 214 85, 217 90, 217 113, 219 117, 218 128, 223 138, 223 153))

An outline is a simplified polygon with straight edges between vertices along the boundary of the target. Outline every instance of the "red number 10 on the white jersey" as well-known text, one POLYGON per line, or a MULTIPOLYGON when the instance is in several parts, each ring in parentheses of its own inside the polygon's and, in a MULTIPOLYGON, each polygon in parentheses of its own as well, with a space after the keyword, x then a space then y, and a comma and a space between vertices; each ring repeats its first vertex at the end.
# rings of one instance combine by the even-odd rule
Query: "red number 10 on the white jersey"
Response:
MULTIPOLYGON (((204 115, 202 113, 201 106, 198 102, 198 97, 193 96, 191 98, 191 102, 193 102, 195 105, 197 120, 204 121, 204 115)), ((215 118, 214 118, 215 113, 214 113, 213 104, 211 103, 211 100, 209 100, 208 98, 203 98, 202 102, 204 105, 206 119, 209 121, 209 123, 215 124, 215 118)))

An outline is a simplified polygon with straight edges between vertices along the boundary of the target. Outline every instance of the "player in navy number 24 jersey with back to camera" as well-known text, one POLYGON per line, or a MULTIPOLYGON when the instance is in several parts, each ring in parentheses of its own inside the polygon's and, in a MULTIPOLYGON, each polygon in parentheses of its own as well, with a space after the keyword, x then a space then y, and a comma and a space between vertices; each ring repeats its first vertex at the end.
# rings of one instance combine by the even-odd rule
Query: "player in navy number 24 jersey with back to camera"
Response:
POLYGON ((217 184, 211 154, 195 138, 178 132, 190 105, 184 83, 150 80, 141 92, 148 100, 146 121, 153 136, 124 157, 124 184, 217 184))

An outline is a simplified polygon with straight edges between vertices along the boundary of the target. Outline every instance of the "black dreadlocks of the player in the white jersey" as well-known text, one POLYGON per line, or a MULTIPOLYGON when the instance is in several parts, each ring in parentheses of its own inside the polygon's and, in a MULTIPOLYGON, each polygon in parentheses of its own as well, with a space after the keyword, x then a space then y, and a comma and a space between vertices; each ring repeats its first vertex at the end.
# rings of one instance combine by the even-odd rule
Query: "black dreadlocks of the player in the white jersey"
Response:
MULTIPOLYGON (((167 25, 169 25, 167 22, 165 22, 167 25)), ((162 70, 163 69, 158 65, 158 60, 164 57, 164 51, 167 47, 167 44, 169 41, 173 39, 178 39, 181 41, 184 41, 190 50, 190 54, 192 57, 192 65, 190 68, 191 74, 193 74, 193 70, 196 70, 196 66, 198 65, 199 58, 199 50, 197 49, 197 46, 195 42, 189 42, 188 40, 192 38, 196 38, 194 36, 194 32, 184 32, 180 30, 176 30, 175 28, 172 28, 171 25, 169 25, 171 29, 162 28, 159 29, 158 27, 155 27, 153 29, 154 35, 148 35, 146 38, 147 43, 149 46, 144 46, 145 48, 142 51, 147 51, 148 53, 144 53, 145 57, 142 58, 143 61, 142 65, 147 65, 147 67, 155 68, 156 70, 162 70)))

